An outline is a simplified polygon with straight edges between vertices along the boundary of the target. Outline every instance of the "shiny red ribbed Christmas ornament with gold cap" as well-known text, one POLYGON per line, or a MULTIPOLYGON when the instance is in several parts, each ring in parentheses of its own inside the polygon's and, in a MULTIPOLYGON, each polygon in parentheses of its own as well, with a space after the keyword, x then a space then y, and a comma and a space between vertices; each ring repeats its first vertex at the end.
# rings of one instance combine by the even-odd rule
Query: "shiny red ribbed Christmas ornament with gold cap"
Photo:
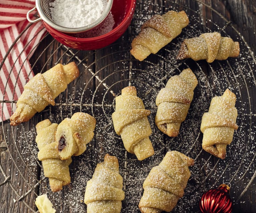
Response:
POLYGON ((221 184, 218 189, 205 192, 200 200, 200 210, 203 213, 231 213, 233 206, 229 189, 228 185, 221 184))

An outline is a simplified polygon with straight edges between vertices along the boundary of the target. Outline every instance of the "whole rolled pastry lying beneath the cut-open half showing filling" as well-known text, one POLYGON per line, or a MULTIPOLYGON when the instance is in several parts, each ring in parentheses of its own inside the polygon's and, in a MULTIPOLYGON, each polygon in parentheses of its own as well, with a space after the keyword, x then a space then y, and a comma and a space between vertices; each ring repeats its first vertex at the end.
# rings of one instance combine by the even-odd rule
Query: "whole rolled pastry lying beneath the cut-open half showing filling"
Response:
POLYGON ((51 190, 57 192, 70 183, 69 164, 71 158, 60 160, 55 132, 58 124, 51 123, 49 119, 43 120, 36 125, 36 143, 39 149, 37 157, 42 161, 44 176, 49 178, 51 190))

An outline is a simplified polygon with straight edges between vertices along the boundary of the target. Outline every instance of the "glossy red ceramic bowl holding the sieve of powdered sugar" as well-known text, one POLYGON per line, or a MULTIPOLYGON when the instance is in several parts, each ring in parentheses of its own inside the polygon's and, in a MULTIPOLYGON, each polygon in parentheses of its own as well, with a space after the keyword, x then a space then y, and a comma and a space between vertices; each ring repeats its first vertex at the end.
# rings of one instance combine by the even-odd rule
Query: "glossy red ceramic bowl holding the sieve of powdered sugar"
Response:
POLYGON ((113 0, 111 14, 115 24, 113 29, 101 36, 93 38, 77 38, 70 34, 67 35, 43 22, 46 30, 58 42, 74 49, 79 50, 95 50, 105 47, 116 41, 130 25, 135 11, 136 0, 113 0))

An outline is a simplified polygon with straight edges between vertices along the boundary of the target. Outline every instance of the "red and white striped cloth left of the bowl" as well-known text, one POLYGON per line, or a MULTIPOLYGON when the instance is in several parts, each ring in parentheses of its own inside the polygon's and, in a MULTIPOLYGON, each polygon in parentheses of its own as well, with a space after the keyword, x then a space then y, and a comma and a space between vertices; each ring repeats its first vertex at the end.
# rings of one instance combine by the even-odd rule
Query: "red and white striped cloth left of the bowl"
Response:
MULTIPOLYGON (((15 39, 30 24, 26 15, 33 7, 35 0, 0 0, 0 63, 15 39)), ((0 121, 9 119, 12 114, 12 104, 2 101, 18 100, 27 79, 34 76, 28 60, 45 31, 41 21, 32 24, 4 61, 0 70, 0 121)), ((16 105, 13 103, 13 111, 15 110, 16 105)))

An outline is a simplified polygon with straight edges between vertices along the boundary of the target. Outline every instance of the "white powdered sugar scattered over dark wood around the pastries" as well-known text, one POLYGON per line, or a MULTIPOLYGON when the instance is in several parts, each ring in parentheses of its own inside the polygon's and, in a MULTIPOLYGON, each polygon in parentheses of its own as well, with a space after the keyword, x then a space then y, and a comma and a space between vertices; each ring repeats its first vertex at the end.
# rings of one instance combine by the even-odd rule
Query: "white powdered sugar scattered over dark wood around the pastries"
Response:
MULTIPOLYGON (((146 5, 149 7, 149 5, 146 5)), ((161 11, 157 11, 161 14, 161 11)), ((136 11, 135 19, 132 22, 131 29, 139 33, 139 25, 142 25, 145 20, 151 17, 152 12, 141 13, 136 11)), ((89 92, 90 97, 82 97, 84 88, 76 88, 79 92, 75 93, 76 98, 72 97, 65 103, 56 104, 54 107, 48 107, 49 118, 52 122, 59 123, 65 117, 71 117, 74 112, 80 111, 80 99, 88 106, 82 106, 81 110, 92 115, 91 100, 94 96, 93 104, 105 104, 106 106, 98 106, 93 108, 93 113, 97 120, 94 139, 87 145, 87 150, 81 156, 74 157, 70 166, 71 184, 64 187, 62 192, 52 193, 47 178, 42 181, 40 185, 40 193, 47 192, 48 197, 54 203, 54 207, 58 209, 59 213, 72 211, 74 213, 86 212, 86 205, 81 202, 83 200, 86 182, 91 179, 96 164, 103 161, 105 153, 114 155, 119 160, 120 174, 123 177, 123 189, 125 191, 125 200, 123 201, 122 213, 139 213, 138 204, 143 194, 143 182, 148 176, 152 167, 157 166, 163 159, 165 153, 169 150, 177 150, 195 159, 195 165, 190 168, 192 176, 185 188, 185 195, 178 201, 177 206, 172 212, 194 212, 197 209, 199 198, 203 192, 210 188, 216 188, 219 184, 231 181, 230 196, 232 201, 235 201, 240 195, 241 191, 249 183, 253 176, 256 165, 251 164, 256 153, 255 146, 255 114, 254 109, 250 108, 249 101, 253 101, 253 94, 251 91, 255 88, 253 80, 256 66, 252 63, 252 58, 248 52, 248 48, 241 46, 241 54, 236 59, 228 59, 227 61, 214 62, 209 65, 205 62, 193 62, 188 59, 186 61, 178 61, 175 59, 180 44, 185 38, 199 36, 202 31, 198 30, 198 25, 201 21, 197 17, 190 17, 191 23, 188 27, 183 29, 183 32, 172 43, 168 44, 156 55, 151 55, 143 62, 132 60, 132 80, 131 84, 138 89, 138 97, 140 97, 146 109, 151 110, 148 117, 152 135, 150 139, 155 149, 155 155, 151 156, 142 162, 136 160, 133 154, 125 154, 120 137, 114 132, 111 114, 114 111, 114 97, 112 99, 100 99, 102 93, 109 93, 109 90, 102 89, 102 91, 89 91, 87 86, 86 91, 89 92), (157 59, 157 60, 156 60, 157 59), (158 61, 158 63, 156 63, 158 61), (250 67, 247 64, 250 62, 250 67), (198 86, 195 89, 194 98, 192 100, 188 116, 182 123, 180 133, 175 138, 164 136, 155 126, 154 120, 156 115, 155 99, 163 88, 167 80, 174 75, 179 74, 184 68, 190 67, 198 79, 198 86), (205 69, 207 67, 208 69, 205 69), (246 83, 245 84, 245 80, 246 83), (246 86, 248 87, 247 95, 246 86), (239 129, 234 133, 233 141, 227 148, 227 157, 225 160, 217 160, 210 154, 202 151, 202 133, 200 133, 201 118, 204 112, 207 112, 210 106, 210 101, 214 96, 220 96, 229 88, 237 96, 236 107, 238 109, 237 124, 239 129), (245 94, 243 96, 240 95, 245 94), (78 106, 71 106, 72 103, 77 103, 78 106), (109 105, 109 106, 107 106, 109 105), (72 111, 71 111, 72 109, 72 111), (103 110, 104 109, 104 110, 103 110), (95 138, 98 143, 95 142, 95 138), (166 142, 165 142, 166 140, 166 142), (127 159, 127 160, 126 160, 127 159), (214 162, 214 163, 213 163, 214 162), (216 183, 215 183, 216 182, 216 183), (244 183, 244 185, 240 183, 244 183), (211 183, 215 183, 212 185, 211 183), (72 210, 71 210, 72 209, 72 210)), ((213 22, 211 22, 213 23, 213 22)), ((216 29, 217 26, 215 26, 216 29)), ((209 29, 206 28, 207 31, 209 29)), ((210 31, 209 31, 210 32, 210 31)), ((135 33, 134 33, 135 34, 135 33)), ((133 36, 135 36, 133 34, 133 36)), ((132 37, 133 37, 132 36, 132 37)), ((222 36, 227 36, 226 32, 222 32, 222 36)), ((131 38, 132 40, 132 38, 131 38)), ((233 40, 243 41, 239 37, 234 37, 233 40)), ((122 45, 120 45, 122 48, 122 45)), ((129 47, 125 47, 121 53, 123 59, 130 60, 129 47)), ((93 66, 93 65, 91 65, 93 66)), ((93 67, 91 67, 93 68, 93 67)), ((119 67, 123 76, 129 73, 129 63, 123 62, 119 67)), ((117 70, 116 70, 117 71, 117 70)), ((83 73, 85 75, 86 72, 83 73)), ((128 75, 129 76, 129 75, 128 75)), ((110 80, 108 81, 110 82, 110 80)), ((128 85, 128 79, 125 78, 125 83, 128 85)), ((113 82, 114 84, 115 82, 113 82)), ((121 89, 120 84, 119 89, 121 89)), ((111 83, 108 86, 112 86, 111 83)), ((114 90, 116 94, 120 91, 114 90)), ((64 92, 63 96, 66 95, 64 92)), ((111 97, 111 96, 109 96, 111 97)), ((59 103, 59 100, 56 101, 59 103)), ((41 113, 40 113, 41 114, 41 113)), ((45 113, 46 114, 46 113, 45 113)), ((36 123, 32 119, 31 122, 36 123)), ((17 179, 23 179, 20 175, 28 172, 31 174, 31 182, 37 183, 36 168, 40 165, 37 160, 37 145, 35 143, 35 128, 28 129, 25 127, 23 133, 22 125, 19 125, 17 131, 22 132, 19 137, 15 136, 15 143, 10 141, 8 146, 17 146, 18 150, 11 153, 12 156, 17 156, 15 162, 20 162, 21 158, 24 160, 26 166, 22 163, 21 167, 14 168, 13 174, 17 179), (25 138, 26 137, 26 138, 25 138), (21 156, 16 153, 19 152, 21 156), (31 173, 30 173, 31 172, 31 173)), ((11 160, 11 159, 10 159, 11 160)), ((43 170, 41 171, 41 178, 43 178, 43 170)), ((26 185, 26 183, 25 183, 26 185)), ((26 193, 30 188, 26 185, 27 191, 22 191, 20 183, 18 182, 16 188, 20 190, 20 194, 26 193)))

